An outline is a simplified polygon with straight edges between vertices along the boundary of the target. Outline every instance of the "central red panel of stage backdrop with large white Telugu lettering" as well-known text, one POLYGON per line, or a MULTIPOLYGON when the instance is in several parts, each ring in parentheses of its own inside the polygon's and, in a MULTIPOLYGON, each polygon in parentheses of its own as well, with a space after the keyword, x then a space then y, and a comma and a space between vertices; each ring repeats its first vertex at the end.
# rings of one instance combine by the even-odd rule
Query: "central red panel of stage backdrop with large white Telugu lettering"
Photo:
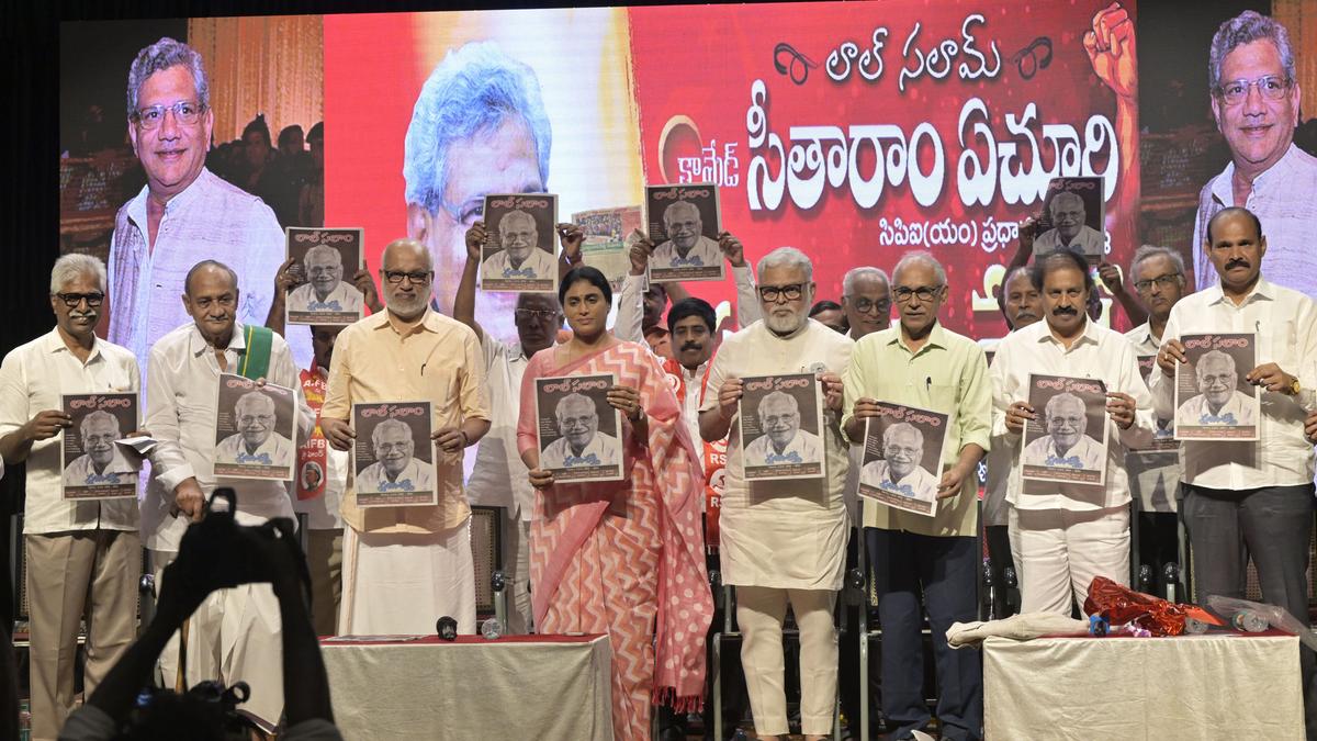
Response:
MULTIPOLYGON (((944 323, 1000 336, 992 290, 1018 222, 1039 211, 1051 177, 1104 178, 1108 257, 1126 264, 1137 247, 1134 4, 1119 5, 1130 22, 1114 33, 1096 22, 1108 7, 889 1, 325 16, 333 132, 325 224, 365 227, 371 266, 391 239, 427 241, 446 307, 465 260, 461 233, 479 216, 464 207, 474 196, 543 186, 560 194, 565 220, 640 203, 644 183, 712 181, 722 186, 723 227, 748 257, 803 249, 819 298, 840 297, 848 268, 890 269, 909 249, 931 249, 951 285, 944 323), (404 141, 427 78, 473 63, 462 47, 485 41, 489 54, 529 69, 548 138, 477 136, 462 156, 474 153, 482 167, 450 154, 435 175, 419 154, 435 127, 427 133, 419 120, 410 186, 404 141), (531 140, 548 145, 547 162, 531 140), (527 160, 520 167, 518 157, 527 160), (425 178, 445 191, 429 207, 408 207, 425 178)), ((436 92, 431 100, 454 95, 452 86, 436 92)), ((715 303, 734 295, 730 285, 690 287, 715 303)), ((507 309, 500 297, 478 305, 500 336, 512 335, 507 309)))

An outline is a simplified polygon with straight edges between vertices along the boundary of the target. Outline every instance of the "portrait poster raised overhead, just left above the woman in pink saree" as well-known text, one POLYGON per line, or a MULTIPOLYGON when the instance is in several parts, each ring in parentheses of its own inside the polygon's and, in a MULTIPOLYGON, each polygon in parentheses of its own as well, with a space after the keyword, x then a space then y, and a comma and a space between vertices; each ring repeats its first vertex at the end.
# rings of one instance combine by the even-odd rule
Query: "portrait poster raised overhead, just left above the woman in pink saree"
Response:
POLYGON ((557 222, 556 195, 486 195, 489 241, 481 248, 481 290, 557 293, 557 222))

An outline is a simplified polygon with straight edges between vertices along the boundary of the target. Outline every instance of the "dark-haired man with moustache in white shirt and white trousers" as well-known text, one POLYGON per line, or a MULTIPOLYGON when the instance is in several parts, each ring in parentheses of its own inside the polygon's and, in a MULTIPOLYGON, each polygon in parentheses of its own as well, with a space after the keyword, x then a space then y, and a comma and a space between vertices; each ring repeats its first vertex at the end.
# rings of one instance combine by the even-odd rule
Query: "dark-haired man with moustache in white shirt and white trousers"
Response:
POLYGON ((1018 535, 1021 612, 1069 614, 1088 597, 1093 576, 1130 581, 1130 487, 1125 452, 1152 440, 1152 400, 1134 347, 1085 315, 1093 278, 1073 252, 1040 257, 1033 269, 1046 322, 1008 335, 997 345, 993 381, 994 440, 1019 450, 1025 423, 1044 413, 1029 398, 1030 373, 1101 380, 1106 385, 1108 446, 1104 485, 1025 481, 1011 471, 1006 498, 1018 535))

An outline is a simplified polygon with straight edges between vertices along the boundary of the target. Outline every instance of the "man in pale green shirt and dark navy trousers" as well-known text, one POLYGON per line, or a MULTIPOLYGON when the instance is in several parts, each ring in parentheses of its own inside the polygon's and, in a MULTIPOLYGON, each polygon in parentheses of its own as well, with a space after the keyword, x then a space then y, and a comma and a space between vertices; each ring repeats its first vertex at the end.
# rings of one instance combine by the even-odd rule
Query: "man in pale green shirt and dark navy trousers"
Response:
MULTIPOLYGON (((982 726, 981 658, 977 651, 948 649, 946 634, 952 622, 977 617, 975 472, 989 448, 992 386, 982 348, 938 322, 947 291, 946 272, 932 254, 906 253, 892 273, 892 295, 901 322, 861 338, 844 378, 843 409, 851 411, 844 421, 846 435, 861 443, 873 419, 873 431, 881 438, 876 444, 885 459, 868 467, 886 463, 884 473, 900 479, 900 485, 910 487, 911 493, 921 489, 914 481, 921 475, 928 476, 917 456, 938 446, 940 438, 930 439, 909 422, 888 427, 888 434, 878 432, 880 403, 947 415, 946 444, 931 471, 938 498, 932 513, 917 514, 864 501, 871 563, 881 574, 878 584, 886 585, 878 593, 884 630, 882 712, 889 725, 898 728, 893 737, 922 730, 930 720, 923 701, 921 593, 932 634, 942 736, 980 738, 982 726), (877 537, 876 526, 888 530, 886 538, 877 537)), ((867 483, 868 467, 861 473, 861 485, 867 483)))

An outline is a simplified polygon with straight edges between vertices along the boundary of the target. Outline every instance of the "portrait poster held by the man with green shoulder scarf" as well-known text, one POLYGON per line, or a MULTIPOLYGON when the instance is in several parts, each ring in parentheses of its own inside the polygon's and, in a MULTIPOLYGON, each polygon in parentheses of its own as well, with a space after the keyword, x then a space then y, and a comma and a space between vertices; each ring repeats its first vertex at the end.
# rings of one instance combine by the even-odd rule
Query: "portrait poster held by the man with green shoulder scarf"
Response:
POLYGON ((215 476, 291 481, 298 459, 298 396, 220 373, 215 414, 215 476))

